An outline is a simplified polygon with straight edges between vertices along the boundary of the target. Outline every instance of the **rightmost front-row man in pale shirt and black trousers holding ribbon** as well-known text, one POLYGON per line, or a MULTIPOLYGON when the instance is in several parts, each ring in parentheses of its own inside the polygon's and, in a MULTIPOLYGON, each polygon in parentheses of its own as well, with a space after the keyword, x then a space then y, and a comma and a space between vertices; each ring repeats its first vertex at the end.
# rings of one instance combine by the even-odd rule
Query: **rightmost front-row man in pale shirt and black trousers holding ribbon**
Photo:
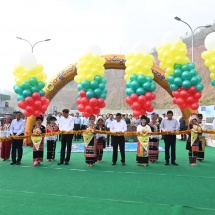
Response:
POLYGON ((169 165, 169 150, 171 147, 171 163, 174 166, 178 166, 175 162, 176 159, 176 135, 175 131, 179 129, 178 121, 173 118, 173 112, 171 110, 167 111, 167 118, 164 118, 161 122, 160 128, 162 131, 168 131, 170 134, 164 135, 164 143, 165 143, 165 165, 169 165))

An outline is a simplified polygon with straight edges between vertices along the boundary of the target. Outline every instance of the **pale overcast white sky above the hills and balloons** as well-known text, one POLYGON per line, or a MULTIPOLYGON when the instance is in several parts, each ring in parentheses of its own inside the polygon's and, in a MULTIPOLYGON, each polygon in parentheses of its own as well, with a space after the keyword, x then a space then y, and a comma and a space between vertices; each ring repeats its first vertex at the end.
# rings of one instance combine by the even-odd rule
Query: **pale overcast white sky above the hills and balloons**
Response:
POLYGON ((32 44, 48 79, 77 62, 86 48, 97 44, 102 54, 126 54, 137 42, 149 49, 163 35, 189 32, 215 22, 214 0, 0 0, 0 89, 12 89, 13 69, 32 44))

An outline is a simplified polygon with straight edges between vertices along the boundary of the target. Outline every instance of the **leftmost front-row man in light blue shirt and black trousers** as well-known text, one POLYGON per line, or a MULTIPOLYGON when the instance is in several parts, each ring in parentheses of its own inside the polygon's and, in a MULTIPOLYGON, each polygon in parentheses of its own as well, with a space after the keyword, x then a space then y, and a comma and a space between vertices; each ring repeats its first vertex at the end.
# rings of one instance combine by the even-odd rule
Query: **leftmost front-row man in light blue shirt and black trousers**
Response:
MULTIPOLYGON (((25 133, 25 120, 22 119, 22 113, 18 111, 16 113, 16 119, 14 119, 10 126, 10 134, 15 136, 22 136, 25 133)), ((12 150, 11 157, 12 163, 10 165, 19 165, 22 160, 22 149, 23 139, 12 139, 12 150), (18 156, 16 159, 16 151, 18 151, 18 156)))

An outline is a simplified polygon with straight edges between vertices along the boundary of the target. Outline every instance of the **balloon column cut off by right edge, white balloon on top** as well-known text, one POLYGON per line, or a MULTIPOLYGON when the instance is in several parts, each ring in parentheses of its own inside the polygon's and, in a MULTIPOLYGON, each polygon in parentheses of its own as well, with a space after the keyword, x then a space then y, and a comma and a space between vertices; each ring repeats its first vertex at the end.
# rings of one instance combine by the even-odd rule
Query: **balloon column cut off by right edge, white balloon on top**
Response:
POLYGON ((215 32, 208 34, 205 38, 205 48, 207 51, 202 52, 201 57, 211 72, 211 85, 215 86, 215 32))

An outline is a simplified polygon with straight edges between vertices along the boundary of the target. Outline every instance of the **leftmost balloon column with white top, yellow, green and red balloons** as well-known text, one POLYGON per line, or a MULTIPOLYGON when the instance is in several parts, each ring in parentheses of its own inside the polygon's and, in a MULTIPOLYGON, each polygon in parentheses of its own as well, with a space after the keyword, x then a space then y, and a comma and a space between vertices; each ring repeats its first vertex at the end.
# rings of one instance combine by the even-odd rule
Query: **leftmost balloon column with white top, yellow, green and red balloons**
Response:
POLYGON ((24 115, 37 117, 45 112, 50 103, 43 90, 47 75, 43 72, 43 66, 36 63, 35 56, 32 53, 23 55, 13 74, 16 77, 13 89, 24 115))

